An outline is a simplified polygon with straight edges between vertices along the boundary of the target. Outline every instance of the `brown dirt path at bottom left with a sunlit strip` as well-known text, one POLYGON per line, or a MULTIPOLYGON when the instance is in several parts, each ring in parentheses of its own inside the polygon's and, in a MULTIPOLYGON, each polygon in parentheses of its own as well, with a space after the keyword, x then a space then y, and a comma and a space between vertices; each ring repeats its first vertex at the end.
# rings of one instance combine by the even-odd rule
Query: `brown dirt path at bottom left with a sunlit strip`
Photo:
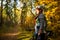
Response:
POLYGON ((17 40, 17 35, 20 33, 5 33, 0 34, 0 40, 17 40))

